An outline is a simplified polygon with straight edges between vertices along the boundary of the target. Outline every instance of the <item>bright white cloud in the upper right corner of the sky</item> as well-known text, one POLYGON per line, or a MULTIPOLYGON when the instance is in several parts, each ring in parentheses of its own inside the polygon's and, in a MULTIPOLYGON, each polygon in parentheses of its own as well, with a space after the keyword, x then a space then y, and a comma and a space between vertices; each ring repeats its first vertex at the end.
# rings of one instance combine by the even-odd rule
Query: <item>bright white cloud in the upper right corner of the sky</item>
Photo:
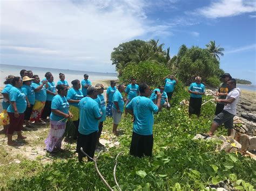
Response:
POLYGON ((210 6, 197 9, 199 13, 207 18, 230 17, 256 11, 255 0, 219 0, 213 1, 210 6))

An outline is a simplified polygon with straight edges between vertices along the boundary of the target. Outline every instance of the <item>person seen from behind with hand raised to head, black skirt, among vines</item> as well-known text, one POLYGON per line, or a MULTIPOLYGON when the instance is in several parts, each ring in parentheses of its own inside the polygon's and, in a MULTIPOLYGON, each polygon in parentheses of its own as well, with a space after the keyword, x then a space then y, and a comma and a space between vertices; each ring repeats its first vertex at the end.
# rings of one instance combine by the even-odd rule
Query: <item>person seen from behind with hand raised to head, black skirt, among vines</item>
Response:
POLYGON ((160 108, 161 94, 157 93, 157 105, 147 98, 151 94, 146 83, 139 85, 140 95, 126 105, 126 109, 134 116, 130 154, 134 157, 151 156, 153 148, 154 117, 160 108))

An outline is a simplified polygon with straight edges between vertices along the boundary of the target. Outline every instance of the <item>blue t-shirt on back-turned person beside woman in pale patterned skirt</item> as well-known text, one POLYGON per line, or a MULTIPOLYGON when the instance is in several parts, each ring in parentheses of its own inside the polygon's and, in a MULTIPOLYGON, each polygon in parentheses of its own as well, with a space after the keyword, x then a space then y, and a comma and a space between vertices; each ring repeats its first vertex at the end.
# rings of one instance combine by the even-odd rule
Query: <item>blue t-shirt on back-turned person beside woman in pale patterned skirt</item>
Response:
POLYGON ((91 97, 84 97, 79 103, 80 110, 80 122, 78 131, 82 135, 89 135, 95 131, 98 131, 99 118, 102 116, 99 111, 98 103, 91 97))

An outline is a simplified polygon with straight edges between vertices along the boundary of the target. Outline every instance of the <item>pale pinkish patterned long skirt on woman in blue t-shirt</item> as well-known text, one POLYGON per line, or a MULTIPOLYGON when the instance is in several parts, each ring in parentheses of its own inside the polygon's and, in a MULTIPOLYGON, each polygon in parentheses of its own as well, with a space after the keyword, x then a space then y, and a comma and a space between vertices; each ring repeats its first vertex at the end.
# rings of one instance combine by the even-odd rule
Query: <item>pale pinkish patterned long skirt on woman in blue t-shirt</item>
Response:
POLYGON ((66 122, 50 121, 51 129, 45 140, 46 150, 52 152, 62 146, 62 138, 66 128, 66 122))

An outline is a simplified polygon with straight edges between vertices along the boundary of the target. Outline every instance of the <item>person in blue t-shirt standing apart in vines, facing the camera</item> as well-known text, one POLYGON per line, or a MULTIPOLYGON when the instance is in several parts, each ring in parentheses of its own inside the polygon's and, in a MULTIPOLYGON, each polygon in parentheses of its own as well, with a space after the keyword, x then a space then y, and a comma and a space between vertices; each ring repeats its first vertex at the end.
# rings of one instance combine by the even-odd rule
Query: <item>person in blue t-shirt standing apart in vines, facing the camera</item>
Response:
POLYGON ((191 83, 188 88, 188 92, 190 93, 190 105, 188 109, 188 114, 191 117, 192 114, 196 114, 197 117, 200 116, 201 113, 201 105, 202 105, 202 96, 205 94, 205 86, 201 83, 201 77, 196 77, 196 82, 191 83))

